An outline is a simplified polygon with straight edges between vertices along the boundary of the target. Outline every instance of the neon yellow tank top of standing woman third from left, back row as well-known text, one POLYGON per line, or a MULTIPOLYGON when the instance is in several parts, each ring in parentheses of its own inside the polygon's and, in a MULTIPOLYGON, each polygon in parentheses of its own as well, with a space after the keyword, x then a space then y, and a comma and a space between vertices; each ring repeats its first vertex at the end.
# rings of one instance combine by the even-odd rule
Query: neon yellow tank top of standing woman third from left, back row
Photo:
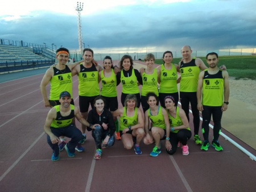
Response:
POLYGON ((101 95, 104 97, 117 97, 117 77, 114 69, 110 77, 104 76, 104 70, 101 70, 101 95))

